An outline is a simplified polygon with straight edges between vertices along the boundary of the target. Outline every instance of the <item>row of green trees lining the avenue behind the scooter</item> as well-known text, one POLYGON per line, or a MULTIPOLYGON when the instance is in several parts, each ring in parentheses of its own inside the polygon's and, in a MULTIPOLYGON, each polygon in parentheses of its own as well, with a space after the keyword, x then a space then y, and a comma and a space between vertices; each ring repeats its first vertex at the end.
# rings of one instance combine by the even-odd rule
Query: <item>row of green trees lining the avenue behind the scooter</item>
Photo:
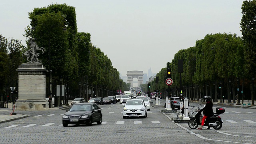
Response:
POLYGON ((172 90, 172 96, 180 92, 190 99, 198 100, 210 95, 214 102, 218 99, 244 103, 252 100, 254 105, 254 78, 256 76, 256 1, 242 4, 242 37, 236 34, 207 34, 197 40, 196 45, 180 50, 167 67, 172 70, 173 84, 165 84, 166 68, 156 75, 151 89, 162 92, 172 90), (183 72, 178 70, 178 60, 183 60, 183 72), (181 82, 181 83, 180 83, 181 82))

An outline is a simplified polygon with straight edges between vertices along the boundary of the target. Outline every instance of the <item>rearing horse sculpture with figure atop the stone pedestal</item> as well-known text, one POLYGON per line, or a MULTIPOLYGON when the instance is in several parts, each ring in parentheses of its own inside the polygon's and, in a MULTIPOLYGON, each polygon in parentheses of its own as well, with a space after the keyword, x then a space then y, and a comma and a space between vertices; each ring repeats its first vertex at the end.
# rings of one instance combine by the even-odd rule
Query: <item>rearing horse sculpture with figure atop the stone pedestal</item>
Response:
POLYGON ((30 38, 29 40, 29 47, 30 49, 27 50, 26 52, 24 52, 22 54, 22 57, 26 56, 27 57, 27 61, 28 62, 41 62, 40 60, 38 60, 38 56, 40 53, 38 53, 37 51, 42 50, 42 54, 45 52, 45 49, 43 47, 39 48, 39 46, 36 44, 36 38, 30 38))

